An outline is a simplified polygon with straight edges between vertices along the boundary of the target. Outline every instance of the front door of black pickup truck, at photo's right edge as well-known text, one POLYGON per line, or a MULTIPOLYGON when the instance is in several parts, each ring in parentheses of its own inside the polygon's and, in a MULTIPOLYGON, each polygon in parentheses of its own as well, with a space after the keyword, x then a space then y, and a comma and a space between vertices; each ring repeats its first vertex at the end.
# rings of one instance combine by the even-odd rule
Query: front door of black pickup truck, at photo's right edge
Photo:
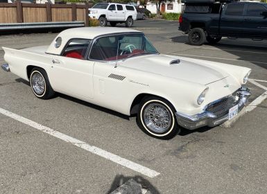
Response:
POLYGON ((244 17, 245 32, 248 36, 267 37, 267 17, 262 15, 267 8, 260 3, 249 3, 244 17))

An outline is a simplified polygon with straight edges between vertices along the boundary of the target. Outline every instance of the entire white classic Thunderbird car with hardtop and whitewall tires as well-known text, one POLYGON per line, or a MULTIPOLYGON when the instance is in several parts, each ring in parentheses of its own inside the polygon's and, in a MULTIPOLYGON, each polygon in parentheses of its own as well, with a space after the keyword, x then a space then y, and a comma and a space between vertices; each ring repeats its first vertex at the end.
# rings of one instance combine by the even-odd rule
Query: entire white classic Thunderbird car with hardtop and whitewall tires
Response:
POLYGON ((50 46, 3 48, 5 71, 31 82, 37 98, 55 91, 128 116, 144 132, 170 138, 233 118, 246 104, 250 69, 157 52, 144 33, 72 28, 50 46))

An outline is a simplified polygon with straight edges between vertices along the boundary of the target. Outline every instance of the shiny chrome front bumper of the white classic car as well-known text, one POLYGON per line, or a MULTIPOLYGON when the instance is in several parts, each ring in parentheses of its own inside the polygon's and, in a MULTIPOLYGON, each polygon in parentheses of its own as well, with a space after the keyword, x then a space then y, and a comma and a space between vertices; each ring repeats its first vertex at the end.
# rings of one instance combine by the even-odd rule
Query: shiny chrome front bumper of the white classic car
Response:
MULTIPOLYGON (((248 97, 250 96, 249 89, 246 87, 241 87, 238 91, 236 91, 236 96, 239 97, 239 100, 237 100, 234 105, 239 106, 240 112, 241 109, 243 109, 243 107, 245 107, 246 103, 248 102, 248 97)), ((218 100, 216 100, 216 102, 217 101, 218 100)), ((217 116, 213 112, 209 112, 206 110, 194 115, 187 115, 181 112, 176 112, 175 116, 178 121, 178 124, 188 130, 194 130, 203 126, 214 127, 228 120, 228 114, 224 114, 223 116, 217 116)))

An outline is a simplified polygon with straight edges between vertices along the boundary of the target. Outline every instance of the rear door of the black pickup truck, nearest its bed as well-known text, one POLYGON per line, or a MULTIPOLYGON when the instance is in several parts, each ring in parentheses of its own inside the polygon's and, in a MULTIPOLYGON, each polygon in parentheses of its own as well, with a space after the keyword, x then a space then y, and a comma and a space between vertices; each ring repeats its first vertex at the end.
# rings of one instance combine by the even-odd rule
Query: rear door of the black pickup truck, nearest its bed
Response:
POLYGON ((220 33, 227 36, 243 35, 244 3, 230 3, 225 5, 221 15, 220 33))

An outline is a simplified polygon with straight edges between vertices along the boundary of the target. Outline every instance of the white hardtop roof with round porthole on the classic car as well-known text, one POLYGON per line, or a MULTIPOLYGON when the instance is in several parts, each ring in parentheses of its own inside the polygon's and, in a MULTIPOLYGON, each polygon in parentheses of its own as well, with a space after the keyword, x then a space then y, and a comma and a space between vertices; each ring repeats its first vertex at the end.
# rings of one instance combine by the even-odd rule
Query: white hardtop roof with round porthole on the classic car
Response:
POLYGON ((46 53, 51 53, 55 55, 60 55, 62 48, 69 41, 69 39, 81 38, 81 39, 94 39, 95 37, 101 35, 112 35, 116 33, 141 33, 138 30, 132 30, 129 28, 112 28, 112 27, 82 27, 82 28, 70 28, 62 31, 55 39, 58 37, 62 38, 62 44, 60 47, 55 48, 55 39, 50 44, 46 53))

